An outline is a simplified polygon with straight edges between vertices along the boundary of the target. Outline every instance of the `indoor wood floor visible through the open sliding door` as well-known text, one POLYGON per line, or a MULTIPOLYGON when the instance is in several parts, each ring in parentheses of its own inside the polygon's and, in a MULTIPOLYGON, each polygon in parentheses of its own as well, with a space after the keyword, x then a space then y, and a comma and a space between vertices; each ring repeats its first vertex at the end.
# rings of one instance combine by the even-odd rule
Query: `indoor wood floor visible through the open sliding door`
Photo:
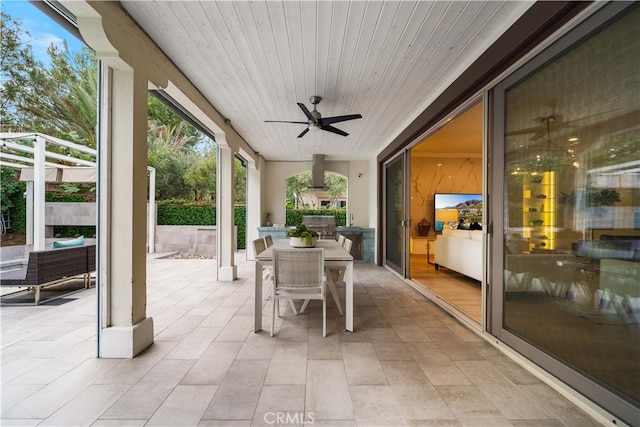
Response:
POLYGON ((411 279, 456 306, 478 325, 482 322, 482 290, 477 280, 446 268, 436 270, 425 255, 411 256, 411 279))

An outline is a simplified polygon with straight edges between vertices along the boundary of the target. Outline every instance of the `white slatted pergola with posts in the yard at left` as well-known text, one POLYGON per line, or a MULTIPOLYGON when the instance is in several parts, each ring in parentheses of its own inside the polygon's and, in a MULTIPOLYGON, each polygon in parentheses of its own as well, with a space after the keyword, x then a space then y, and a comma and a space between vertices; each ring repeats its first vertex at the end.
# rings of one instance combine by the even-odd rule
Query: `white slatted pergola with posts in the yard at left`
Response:
MULTIPOLYGON (((41 133, 0 133, 2 150, 0 166, 20 169, 20 181, 27 183, 27 244, 33 250, 45 249, 45 183, 96 182, 97 151, 93 148, 65 141, 41 133), (63 147, 67 154, 50 151, 47 146, 63 147), (88 159, 69 155, 83 153, 88 159)), ((155 188, 155 168, 147 167, 150 188, 155 188)), ((147 235, 149 252, 155 241, 155 191, 149 192, 147 235)))

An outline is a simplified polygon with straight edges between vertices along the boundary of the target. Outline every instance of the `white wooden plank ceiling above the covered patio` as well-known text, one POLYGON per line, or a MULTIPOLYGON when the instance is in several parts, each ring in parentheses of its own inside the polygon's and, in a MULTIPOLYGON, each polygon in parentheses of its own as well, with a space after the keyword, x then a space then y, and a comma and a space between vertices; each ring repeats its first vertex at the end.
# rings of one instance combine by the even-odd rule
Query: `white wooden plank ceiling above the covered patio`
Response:
POLYGON ((122 6, 267 160, 368 160, 532 2, 133 1, 122 6), (297 136, 318 95, 323 117, 297 136))

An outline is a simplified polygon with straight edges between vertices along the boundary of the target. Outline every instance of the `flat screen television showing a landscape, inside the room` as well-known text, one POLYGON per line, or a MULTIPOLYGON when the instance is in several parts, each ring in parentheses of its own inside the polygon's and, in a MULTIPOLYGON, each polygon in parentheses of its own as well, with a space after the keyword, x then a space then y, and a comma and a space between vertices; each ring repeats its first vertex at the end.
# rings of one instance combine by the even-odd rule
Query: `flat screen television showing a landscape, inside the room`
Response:
POLYGON ((435 231, 455 223, 458 228, 482 225, 482 194, 435 194, 435 231))

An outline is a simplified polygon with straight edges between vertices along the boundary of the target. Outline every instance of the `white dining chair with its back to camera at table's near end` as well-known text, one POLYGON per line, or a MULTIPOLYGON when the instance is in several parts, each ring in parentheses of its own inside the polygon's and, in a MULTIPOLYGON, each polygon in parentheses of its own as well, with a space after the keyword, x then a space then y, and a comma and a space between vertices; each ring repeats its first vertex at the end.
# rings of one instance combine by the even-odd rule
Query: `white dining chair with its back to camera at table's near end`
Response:
MULTIPOLYGON (((322 336, 327 336, 327 295, 324 280, 324 249, 274 249, 271 291, 271 336, 280 299, 322 300, 322 336)), ((279 313, 278 313, 279 314, 279 313)))

